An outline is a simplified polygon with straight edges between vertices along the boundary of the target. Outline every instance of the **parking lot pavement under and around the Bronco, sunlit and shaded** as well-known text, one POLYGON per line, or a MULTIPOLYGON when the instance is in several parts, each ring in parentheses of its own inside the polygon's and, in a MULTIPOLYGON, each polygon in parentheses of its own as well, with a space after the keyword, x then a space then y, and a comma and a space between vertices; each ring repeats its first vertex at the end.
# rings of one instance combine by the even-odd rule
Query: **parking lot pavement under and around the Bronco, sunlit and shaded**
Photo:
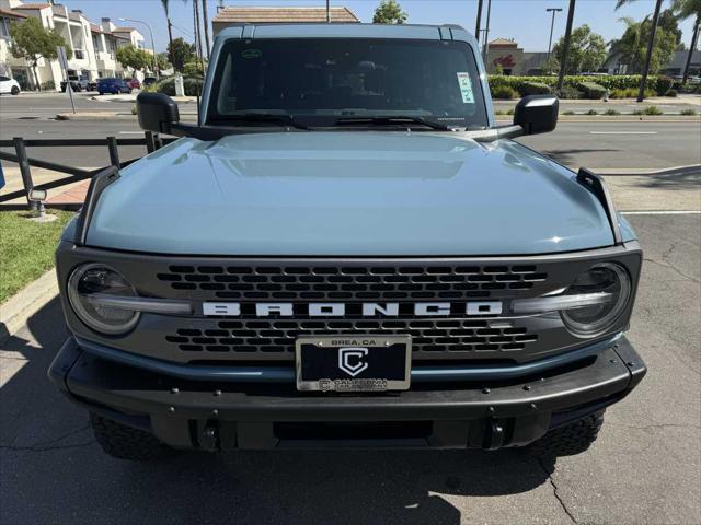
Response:
POLYGON ((701 215, 630 215, 645 262, 630 339, 650 372, 599 441, 554 465, 518 452, 103 455, 46 378, 57 301, 0 357, 0 522, 700 523, 701 215))

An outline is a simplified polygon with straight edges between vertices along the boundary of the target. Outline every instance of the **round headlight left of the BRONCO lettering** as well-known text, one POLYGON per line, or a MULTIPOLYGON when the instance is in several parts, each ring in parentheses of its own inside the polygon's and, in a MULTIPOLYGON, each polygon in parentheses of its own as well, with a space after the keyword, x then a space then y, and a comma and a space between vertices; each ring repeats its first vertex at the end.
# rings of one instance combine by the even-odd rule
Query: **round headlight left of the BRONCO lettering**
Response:
POLYGON ((112 268, 101 264, 79 267, 68 280, 68 300, 85 325, 95 331, 116 335, 131 329, 139 313, 100 304, 105 295, 136 298, 134 287, 112 268))

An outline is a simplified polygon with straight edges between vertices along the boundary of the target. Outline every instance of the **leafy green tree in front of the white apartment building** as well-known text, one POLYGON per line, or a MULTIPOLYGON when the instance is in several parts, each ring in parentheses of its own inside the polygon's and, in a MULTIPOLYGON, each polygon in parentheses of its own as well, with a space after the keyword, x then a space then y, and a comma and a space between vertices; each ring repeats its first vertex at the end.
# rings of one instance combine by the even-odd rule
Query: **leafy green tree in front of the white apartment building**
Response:
POLYGON ((34 85, 38 91, 42 91, 39 75, 36 71, 38 61, 42 58, 56 60, 58 46, 66 48, 67 58, 73 56, 73 51, 58 31, 44 28, 42 22, 33 16, 24 22, 11 23, 10 37, 12 42, 10 52, 14 58, 23 58, 30 65, 34 74, 34 85))

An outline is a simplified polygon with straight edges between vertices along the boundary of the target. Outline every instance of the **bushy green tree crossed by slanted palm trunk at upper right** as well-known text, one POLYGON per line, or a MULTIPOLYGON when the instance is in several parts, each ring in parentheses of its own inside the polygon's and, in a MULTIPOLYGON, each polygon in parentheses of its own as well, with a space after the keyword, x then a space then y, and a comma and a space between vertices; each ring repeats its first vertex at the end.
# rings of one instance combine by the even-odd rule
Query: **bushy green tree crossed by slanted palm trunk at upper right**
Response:
MULTIPOLYGON (((647 43, 653 30, 648 18, 641 22, 621 19, 627 28, 621 38, 611 43, 611 54, 620 55, 619 61, 628 65, 629 73, 641 73, 646 63, 647 43)), ((650 71, 657 72, 671 60, 676 44, 676 35, 664 27, 658 27, 650 60, 650 71)))

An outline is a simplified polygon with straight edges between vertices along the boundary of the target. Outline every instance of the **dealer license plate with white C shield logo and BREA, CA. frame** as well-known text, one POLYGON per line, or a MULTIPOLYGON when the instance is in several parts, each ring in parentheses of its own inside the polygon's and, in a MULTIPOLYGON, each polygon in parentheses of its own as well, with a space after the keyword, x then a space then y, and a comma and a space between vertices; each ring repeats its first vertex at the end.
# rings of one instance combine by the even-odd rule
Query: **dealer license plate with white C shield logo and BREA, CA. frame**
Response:
POLYGON ((297 389, 322 392, 406 390, 411 336, 300 337, 297 389))

